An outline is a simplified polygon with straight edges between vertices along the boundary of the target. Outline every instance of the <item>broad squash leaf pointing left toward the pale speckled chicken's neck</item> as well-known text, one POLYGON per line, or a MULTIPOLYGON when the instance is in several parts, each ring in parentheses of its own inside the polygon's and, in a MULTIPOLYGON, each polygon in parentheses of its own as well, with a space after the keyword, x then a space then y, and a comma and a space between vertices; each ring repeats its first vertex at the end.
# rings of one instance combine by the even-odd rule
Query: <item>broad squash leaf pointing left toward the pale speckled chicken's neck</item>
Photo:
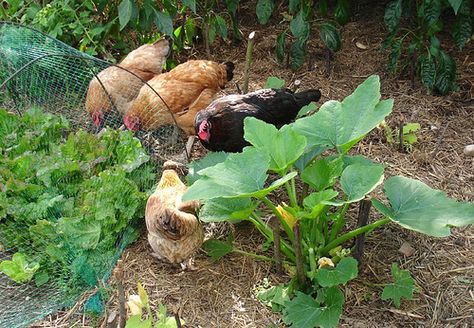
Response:
POLYGON ((230 154, 224 162, 199 171, 202 177, 189 187, 183 200, 254 193, 263 188, 269 164, 267 154, 245 147, 242 153, 230 154))

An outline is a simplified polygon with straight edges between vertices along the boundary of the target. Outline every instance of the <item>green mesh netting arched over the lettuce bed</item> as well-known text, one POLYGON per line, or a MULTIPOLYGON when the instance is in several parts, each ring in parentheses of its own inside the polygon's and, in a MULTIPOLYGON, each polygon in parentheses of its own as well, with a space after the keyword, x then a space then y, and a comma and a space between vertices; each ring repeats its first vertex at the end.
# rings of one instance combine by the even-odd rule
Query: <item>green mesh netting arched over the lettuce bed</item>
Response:
MULTIPOLYGON (((21 267, 16 281, 0 272, 0 327, 26 326, 103 286, 138 236, 161 164, 184 156, 174 125, 114 129, 119 99, 149 87, 132 73, 120 95, 101 81, 89 95, 112 109, 105 128, 93 125, 89 83, 110 66, 0 22, 0 262, 21 267)), ((89 310, 100 312, 99 297, 89 310)))

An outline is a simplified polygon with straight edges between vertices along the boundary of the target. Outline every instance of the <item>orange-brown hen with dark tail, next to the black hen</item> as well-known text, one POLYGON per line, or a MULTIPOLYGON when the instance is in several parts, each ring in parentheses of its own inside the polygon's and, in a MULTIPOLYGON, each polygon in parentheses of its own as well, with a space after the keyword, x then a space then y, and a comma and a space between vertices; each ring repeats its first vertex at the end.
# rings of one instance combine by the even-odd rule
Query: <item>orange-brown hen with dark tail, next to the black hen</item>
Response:
POLYGON ((124 117, 125 126, 132 131, 154 131, 174 123, 165 101, 178 126, 188 135, 194 135, 196 113, 206 108, 214 95, 232 79, 233 70, 231 62, 190 60, 155 76, 148 84, 156 93, 148 87, 140 90, 124 117))

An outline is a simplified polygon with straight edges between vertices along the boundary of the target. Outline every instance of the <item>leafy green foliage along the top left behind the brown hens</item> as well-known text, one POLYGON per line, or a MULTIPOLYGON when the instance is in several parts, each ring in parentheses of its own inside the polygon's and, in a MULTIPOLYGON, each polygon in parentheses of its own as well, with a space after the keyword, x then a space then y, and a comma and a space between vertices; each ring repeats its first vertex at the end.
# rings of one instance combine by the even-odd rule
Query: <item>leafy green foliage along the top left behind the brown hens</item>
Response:
POLYGON ((225 5, 215 0, 8 0, 0 6, 0 20, 32 25, 81 51, 114 61, 115 52, 129 52, 160 34, 172 36, 173 49, 181 52, 201 33, 209 49, 217 36, 228 37, 228 21, 234 39, 240 40, 239 0, 226 0, 225 5))

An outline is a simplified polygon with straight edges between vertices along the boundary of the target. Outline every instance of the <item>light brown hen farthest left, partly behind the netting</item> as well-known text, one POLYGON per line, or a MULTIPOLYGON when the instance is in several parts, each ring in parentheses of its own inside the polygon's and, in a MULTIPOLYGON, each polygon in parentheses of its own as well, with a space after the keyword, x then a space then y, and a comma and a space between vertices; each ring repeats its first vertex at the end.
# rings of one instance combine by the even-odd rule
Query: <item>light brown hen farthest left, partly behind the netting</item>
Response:
POLYGON ((170 52, 170 41, 165 36, 153 44, 142 45, 130 52, 117 65, 119 67, 110 66, 91 80, 87 90, 86 109, 97 127, 102 126, 106 117, 113 114, 114 106, 118 114, 123 116, 130 102, 140 92, 143 81, 162 72, 170 52))

